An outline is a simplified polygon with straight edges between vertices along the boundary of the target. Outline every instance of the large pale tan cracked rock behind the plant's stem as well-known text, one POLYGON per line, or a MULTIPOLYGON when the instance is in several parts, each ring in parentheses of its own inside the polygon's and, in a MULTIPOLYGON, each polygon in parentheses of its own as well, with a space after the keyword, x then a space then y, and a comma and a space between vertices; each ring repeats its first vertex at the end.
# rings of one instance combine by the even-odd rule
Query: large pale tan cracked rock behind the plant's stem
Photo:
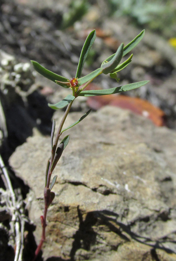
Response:
MULTIPOLYGON (((57 124, 61 116, 55 113, 57 124)), ((66 125, 79 116, 70 113, 66 125)), ((106 106, 68 133, 53 173, 56 197, 48 210, 43 259, 175 260, 175 131, 106 106)), ((49 156, 50 138, 37 133, 10 157, 31 189, 29 217, 37 243, 49 156)))

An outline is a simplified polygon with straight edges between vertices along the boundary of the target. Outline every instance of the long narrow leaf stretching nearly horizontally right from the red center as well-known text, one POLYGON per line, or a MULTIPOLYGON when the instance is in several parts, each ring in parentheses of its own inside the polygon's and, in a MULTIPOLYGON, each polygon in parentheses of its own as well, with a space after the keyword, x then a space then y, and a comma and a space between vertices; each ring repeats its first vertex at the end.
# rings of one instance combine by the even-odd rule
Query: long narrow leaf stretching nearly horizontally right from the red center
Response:
POLYGON ((99 95, 107 95, 107 94, 115 94, 115 93, 121 93, 121 92, 126 92, 128 90, 133 90, 138 87, 141 87, 145 84, 147 84, 149 81, 139 81, 139 82, 134 82, 131 84, 126 84, 124 86, 119 86, 111 89, 106 89, 106 90, 85 90, 82 91, 79 96, 99 96, 99 95))

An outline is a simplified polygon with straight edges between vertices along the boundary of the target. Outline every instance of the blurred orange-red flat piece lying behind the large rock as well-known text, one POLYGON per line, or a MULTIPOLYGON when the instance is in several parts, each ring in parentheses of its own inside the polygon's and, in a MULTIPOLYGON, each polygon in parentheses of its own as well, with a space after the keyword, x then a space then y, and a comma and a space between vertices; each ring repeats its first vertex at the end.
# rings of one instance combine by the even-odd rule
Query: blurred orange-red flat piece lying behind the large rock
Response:
MULTIPOLYGON (((93 84, 89 85, 89 90, 98 89, 97 86, 93 84)), ((119 108, 128 109, 132 112, 143 115, 150 119, 156 126, 165 126, 165 113, 161 109, 153 106, 150 102, 129 97, 126 95, 104 95, 104 96, 92 96, 87 100, 88 106, 92 109, 99 109, 105 105, 117 106, 119 108)))

